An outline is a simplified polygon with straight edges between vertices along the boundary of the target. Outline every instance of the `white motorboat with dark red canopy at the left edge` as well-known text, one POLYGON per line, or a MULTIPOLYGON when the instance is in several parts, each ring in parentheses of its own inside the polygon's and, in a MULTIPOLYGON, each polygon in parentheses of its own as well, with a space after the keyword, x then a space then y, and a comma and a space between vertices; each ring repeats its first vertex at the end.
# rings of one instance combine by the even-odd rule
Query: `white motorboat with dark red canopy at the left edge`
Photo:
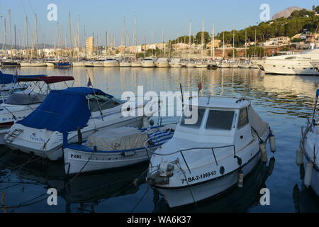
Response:
POLYGON ((74 82, 74 77, 45 77, 44 75, 18 77, 16 91, 0 104, 0 144, 5 144, 4 136, 16 121, 26 118, 40 106, 50 90, 54 89, 55 86, 52 84, 64 82, 68 87, 68 81, 74 82), (46 88, 44 84, 47 85, 46 88), (34 92, 35 89, 38 91, 34 92))

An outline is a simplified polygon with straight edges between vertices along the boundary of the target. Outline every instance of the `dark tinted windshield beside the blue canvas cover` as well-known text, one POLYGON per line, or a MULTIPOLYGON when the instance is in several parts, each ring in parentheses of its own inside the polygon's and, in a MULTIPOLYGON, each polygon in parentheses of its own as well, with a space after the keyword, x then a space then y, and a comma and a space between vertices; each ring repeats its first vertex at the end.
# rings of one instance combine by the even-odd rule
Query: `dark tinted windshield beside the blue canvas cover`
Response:
POLYGON ((89 101, 89 109, 91 112, 105 110, 105 109, 111 109, 113 107, 116 107, 118 105, 121 105, 120 101, 117 101, 116 99, 110 99, 108 96, 103 96, 99 94, 90 94, 87 96, 87 99, 89 101))

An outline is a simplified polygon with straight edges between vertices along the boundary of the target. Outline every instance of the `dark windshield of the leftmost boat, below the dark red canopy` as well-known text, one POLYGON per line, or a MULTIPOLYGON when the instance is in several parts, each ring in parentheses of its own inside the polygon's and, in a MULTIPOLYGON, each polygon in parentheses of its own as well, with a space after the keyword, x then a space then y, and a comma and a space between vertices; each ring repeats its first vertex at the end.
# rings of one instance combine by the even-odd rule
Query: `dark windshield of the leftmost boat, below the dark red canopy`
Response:
POLYGON ((29 104, 39 104, 45 100, 44 94, 36 93, 13 93, 4 102, 9 105, 29 105, 29 104))

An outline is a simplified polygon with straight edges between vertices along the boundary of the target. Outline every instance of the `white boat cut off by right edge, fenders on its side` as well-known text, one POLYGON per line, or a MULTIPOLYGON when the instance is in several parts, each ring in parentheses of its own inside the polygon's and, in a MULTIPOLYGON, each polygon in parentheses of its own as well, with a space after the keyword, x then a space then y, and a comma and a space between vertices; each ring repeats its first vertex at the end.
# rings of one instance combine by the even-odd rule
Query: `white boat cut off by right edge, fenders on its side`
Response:
POLYGON ((319 196, 319 125, 318 125, 318 105, 319 89, 315 94, 315 106, 313 116, 308 121, 306 127, 301 129, 301 144, 296 153, 296 164, 303 165, 303 182, 306 187, 311 187, 315 194, 319 196))

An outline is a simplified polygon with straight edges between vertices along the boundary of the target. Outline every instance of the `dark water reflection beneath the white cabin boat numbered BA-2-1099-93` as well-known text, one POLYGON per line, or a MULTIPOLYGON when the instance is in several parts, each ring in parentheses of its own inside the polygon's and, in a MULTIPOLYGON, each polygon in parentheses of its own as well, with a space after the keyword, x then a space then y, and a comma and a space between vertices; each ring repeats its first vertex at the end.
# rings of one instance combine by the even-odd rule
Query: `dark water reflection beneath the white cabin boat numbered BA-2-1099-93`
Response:
POLYGON ((242 188, 233 187, 227 192, 203 200, 197 204, 189 204, 176 209, 169 208, 164 198, 159 199, 159 194, 154 193, 155 210, 153 212, 199 212, 199 213, 242 213, 257 206, 262 196, 260 190, 267 188, 265 182, 272 175, 275 158, 269 160, 269 164, 259 161, 251 175, 245 177, 242 188))

